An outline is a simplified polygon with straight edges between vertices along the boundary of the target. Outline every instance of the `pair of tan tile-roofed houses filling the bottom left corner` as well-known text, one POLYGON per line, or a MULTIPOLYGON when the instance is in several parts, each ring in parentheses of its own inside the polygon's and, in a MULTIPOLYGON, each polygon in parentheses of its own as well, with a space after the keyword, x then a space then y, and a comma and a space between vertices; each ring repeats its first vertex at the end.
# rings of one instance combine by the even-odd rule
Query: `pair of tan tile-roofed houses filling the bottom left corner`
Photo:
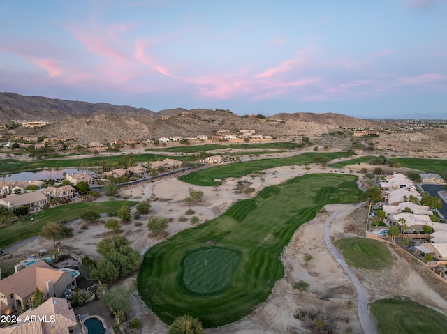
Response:
POLYGON ((52 268, 43 260, 33 262, 28 266, 17 264, 15 273, 7 278, 1 279, 0 274, 0 315, 17 321, 0 328, 0 334, 83 333, 80 318, 66 299, 77 286, 75 273, 52 268), (34 308, 36 287, 45 302, 34 308))

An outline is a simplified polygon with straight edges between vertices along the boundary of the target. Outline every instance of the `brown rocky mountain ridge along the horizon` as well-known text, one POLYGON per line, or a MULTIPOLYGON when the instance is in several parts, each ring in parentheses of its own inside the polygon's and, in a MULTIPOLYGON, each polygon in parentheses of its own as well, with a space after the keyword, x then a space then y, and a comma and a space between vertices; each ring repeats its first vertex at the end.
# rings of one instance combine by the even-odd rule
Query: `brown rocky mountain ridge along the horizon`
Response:
POLYGON ((212 135, 217 130, 255 130, 271 137, 314 136, 346 128, 379 128, 383 123, 342 114, 276 114, 267 119, 238 116, 224 109, 166 109, 159 112, 108 103, 66 101, 41 96, 0 93, 0 119, 52 121, 41 128, 18 127, 10 133, 27 136, 76 137, 79 143, 107 139, 152 139, 212 135))

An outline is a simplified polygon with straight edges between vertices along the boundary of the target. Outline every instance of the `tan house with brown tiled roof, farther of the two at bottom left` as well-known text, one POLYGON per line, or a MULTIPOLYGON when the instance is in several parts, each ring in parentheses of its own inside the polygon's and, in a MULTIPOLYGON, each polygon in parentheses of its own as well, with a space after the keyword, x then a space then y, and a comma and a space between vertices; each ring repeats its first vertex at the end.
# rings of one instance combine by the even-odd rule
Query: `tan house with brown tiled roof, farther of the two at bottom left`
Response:
POLYGON ((52 268, 45 261, 37 261, 31 266, 18 268, 15 273, 0 280, 0 313, 10 314, 33 306, 36 287, 43 298, 62 297, 68 289, 76 286, 76 276, 68 271, 52 268))

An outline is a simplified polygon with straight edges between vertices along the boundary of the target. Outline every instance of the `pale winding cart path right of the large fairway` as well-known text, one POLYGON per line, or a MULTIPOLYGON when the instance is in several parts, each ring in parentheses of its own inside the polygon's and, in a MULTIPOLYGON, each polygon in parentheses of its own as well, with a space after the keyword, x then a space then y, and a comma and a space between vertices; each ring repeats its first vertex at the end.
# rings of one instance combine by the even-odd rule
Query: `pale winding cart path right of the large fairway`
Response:
MULTIPOLYGON (((359 208, 364 203, 360 203, 356 206, 356 208, 359 208)), ((369 316, 369 308, 368 308, 368 300, 366 297, 365 289, 363 289, 362 284, 360 283, 360 280, 358 280, 356 274, 352 271, 351 268, 349 268, 348 264, 346 264, 346 261, 344 261, 344 257, 342 253, 340 253, 337 248, 335 248, 334 245, 332 245, 330 241, 330 223, 332 220, 334 220, 337 215, 339 215, 341 211, 335 211, 330 215, 330 217, 325 221, 324 223, 324 241, 326 243, 326 246, 332 253, 332 256, 335 257, 335 260, 339 263, 342 268, 344 268, 344 271, 348 274, 349 278, 351 278, 354 287, 356 287, 357 291, 357 305, 358 305, 358 319, 360 320, 360 324, 362 325, 363 332, 365 334, 376 334, 376 327, 372 323, 371 317, 369 316)))

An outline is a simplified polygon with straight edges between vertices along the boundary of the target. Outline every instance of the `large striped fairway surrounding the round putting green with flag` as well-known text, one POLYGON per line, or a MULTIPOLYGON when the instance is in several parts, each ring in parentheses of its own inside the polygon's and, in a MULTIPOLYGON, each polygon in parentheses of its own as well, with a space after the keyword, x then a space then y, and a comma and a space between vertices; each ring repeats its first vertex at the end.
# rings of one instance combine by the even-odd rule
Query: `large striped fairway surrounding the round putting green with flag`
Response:
POLYGON ((236 202, 145 254, 138 291, 166 323, 191 314, 207 328, 249 314, 284 276, 280 255, 325 204, 358 202, 356 176, 309 174, 236 202))

